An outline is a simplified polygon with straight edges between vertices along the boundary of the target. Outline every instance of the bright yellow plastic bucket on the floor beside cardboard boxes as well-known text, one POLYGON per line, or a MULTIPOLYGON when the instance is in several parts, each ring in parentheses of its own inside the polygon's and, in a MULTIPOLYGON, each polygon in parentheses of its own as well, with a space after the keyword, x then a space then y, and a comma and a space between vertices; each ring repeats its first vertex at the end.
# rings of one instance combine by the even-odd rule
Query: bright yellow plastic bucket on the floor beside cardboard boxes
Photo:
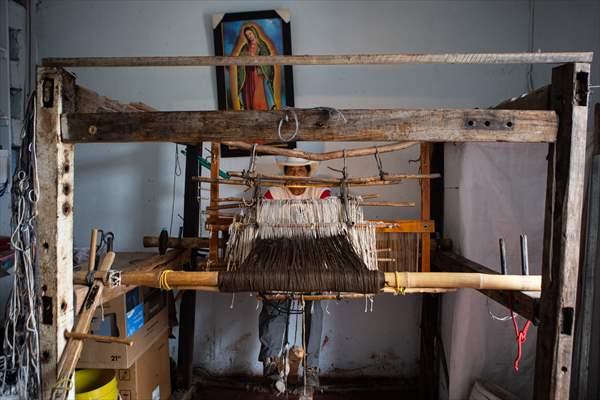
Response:
POLYGON ((117 376, 112 369, 75 371, 75 400, 117 400, 117 376))

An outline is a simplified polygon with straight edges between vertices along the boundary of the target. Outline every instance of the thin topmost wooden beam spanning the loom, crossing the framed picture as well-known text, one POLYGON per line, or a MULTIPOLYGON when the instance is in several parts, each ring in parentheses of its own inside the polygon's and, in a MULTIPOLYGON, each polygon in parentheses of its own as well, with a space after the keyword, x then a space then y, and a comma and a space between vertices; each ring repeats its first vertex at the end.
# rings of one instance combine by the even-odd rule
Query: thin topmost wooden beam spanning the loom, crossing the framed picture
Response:
POLYGON ((591 52, 338 54, 293 56, 172 56, 45 58, 45 67, 192 67, 225 65, 562 64, 592 62, 591 52))

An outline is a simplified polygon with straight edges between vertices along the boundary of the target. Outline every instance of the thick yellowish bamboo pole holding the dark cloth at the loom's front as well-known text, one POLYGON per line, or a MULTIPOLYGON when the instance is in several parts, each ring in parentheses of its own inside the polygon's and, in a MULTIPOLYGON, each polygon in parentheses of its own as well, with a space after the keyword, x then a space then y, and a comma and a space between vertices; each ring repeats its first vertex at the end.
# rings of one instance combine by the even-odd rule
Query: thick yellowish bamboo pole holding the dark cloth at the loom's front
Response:
MULTIPOLYGON (((121 284, 161 287, 162 271, 123 272, 121 284)), ((216 287, 219 272, 171 271, 164 282, 172 288, 216 287)), ((468 272, 386 272, 388 288, 472 288, 486 290, 540 291, 540 275, 495 275, 468 272)))

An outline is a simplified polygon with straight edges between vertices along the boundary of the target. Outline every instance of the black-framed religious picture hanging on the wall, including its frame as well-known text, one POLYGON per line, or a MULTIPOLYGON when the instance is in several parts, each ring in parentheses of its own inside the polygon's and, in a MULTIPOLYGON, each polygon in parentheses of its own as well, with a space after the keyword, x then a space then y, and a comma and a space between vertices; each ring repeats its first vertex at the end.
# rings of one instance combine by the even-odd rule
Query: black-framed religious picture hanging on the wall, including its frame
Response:
MULTIPOLYGON (((291 55, 288 11, 268 10, 213 16, 217 56, 291 55)), ((292 67, 259 65, 217 67, 220 110, 277 110, 294 106, 292 67)), ((273 129, 276 129, 274 127, 273 129)), ((295 143, 287 147, 295 148, 295 143)), ((221 147, 222 157, 247 156, 245 150, 221 147)))

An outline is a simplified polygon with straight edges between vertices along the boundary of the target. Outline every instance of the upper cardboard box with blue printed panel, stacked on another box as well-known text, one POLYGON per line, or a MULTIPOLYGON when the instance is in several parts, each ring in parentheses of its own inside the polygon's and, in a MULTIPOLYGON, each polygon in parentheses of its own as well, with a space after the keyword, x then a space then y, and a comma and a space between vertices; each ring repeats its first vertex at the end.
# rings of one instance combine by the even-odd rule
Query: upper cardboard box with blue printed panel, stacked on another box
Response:
POLYGON ((90 333, 117 336, 133 346, 86 340, 77 368, 127 369, 168 328, 165 296, 160 290, 135 288, 98 308, 90 333))

